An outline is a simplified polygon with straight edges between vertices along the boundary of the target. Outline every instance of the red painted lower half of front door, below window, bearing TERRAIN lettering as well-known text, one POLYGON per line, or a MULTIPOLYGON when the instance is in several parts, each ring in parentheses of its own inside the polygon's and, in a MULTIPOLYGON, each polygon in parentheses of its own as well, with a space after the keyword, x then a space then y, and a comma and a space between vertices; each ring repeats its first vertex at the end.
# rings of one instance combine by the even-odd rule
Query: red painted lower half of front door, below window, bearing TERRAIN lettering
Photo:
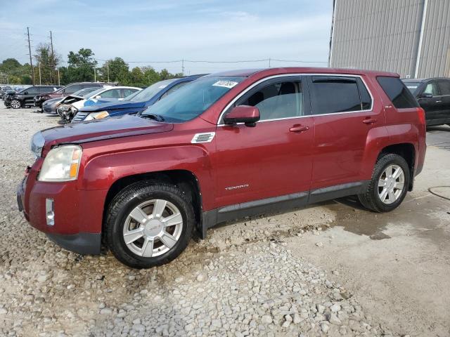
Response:
POLYGON ((264 121, 255 128, 219 126, 214 208, 309 190, 313 141, 312 117, 264 121), (298 124, 309 130, 290 132, 298 124))

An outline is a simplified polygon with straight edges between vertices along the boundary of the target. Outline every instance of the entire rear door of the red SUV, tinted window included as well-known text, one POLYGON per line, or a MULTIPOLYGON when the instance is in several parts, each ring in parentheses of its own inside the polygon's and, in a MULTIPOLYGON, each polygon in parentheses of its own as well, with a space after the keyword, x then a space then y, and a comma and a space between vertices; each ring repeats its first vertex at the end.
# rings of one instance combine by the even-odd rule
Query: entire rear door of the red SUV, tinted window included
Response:
POLYGON ((361 77, 309 76, 308 85, 315 127, 311 201, 319 201, 312 190, 371 178, 362 172, 364 149, 368 133, 384 125, 385 115, 361 77))

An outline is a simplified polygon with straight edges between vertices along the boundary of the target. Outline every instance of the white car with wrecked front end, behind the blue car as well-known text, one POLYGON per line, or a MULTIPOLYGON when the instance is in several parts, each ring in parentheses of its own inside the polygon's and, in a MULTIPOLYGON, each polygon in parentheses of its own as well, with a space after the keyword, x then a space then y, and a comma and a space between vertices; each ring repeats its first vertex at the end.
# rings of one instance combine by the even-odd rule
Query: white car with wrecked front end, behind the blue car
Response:
POLYGON ((82 107, 123 100, 124 98, 134 95, 134 93, 141 90, 141 88, 136 88, 134 86, 105 86, 104 88, 97 89, 96 91, 91 91, 88 95, 72 94, 66 98, 63 98, 56 109, 56 112, 58 112, 61 117, 58 123, 70 123, 72 118, 82 107))

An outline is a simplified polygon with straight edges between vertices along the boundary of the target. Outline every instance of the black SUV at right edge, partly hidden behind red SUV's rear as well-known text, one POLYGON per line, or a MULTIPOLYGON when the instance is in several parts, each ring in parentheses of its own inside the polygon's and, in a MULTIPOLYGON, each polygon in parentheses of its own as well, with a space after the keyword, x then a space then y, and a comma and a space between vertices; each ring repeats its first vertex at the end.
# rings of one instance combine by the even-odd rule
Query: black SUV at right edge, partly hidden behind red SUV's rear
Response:
POLYGON ((403 79, 425 110, 427 126, 450 125, 450 79, 403 79))

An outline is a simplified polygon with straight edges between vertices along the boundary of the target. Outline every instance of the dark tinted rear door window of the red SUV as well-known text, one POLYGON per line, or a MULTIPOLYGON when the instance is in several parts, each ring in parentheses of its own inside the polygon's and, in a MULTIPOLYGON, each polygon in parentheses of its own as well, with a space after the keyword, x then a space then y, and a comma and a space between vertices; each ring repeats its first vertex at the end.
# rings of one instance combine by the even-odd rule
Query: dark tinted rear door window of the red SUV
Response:
POLYGON ((312 77, 314 114, 370 110, 371 95, 358 77, 312 77))

